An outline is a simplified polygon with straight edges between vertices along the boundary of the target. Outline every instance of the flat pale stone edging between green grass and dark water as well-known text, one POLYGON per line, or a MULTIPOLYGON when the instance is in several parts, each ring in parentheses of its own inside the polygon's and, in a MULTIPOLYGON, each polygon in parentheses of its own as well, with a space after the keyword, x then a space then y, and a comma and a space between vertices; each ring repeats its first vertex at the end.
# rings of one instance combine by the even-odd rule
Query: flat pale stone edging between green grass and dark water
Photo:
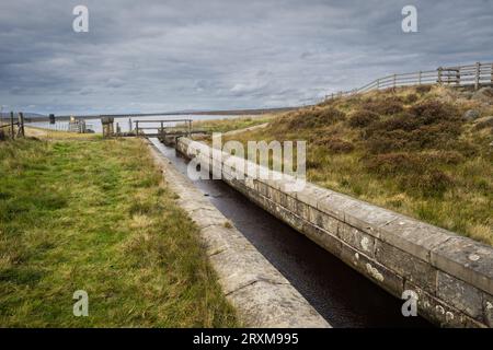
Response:
POLYGON ((177 203, 198 225, 226 298, 249 327, 331 328, 283 275, 260 254, 192 182, 149 141, 149 150, 177 203))

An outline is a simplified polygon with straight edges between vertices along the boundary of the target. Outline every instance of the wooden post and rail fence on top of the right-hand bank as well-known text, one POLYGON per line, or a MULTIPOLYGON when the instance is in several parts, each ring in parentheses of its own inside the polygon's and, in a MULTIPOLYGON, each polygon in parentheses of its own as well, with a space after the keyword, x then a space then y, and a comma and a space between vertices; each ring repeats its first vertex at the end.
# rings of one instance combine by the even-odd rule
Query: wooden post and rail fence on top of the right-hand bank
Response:
POLYGON ((358 89, 328 94, 325 95, 324 101, 351 96, 374 90, 431 84, 450 85, 457 88, 473 86, 474 90, 479 90, 481 86, 493 86, 493 63, 477 62, 468 66, 438 67, 436 70, 391 74, 376 79, 358 89))

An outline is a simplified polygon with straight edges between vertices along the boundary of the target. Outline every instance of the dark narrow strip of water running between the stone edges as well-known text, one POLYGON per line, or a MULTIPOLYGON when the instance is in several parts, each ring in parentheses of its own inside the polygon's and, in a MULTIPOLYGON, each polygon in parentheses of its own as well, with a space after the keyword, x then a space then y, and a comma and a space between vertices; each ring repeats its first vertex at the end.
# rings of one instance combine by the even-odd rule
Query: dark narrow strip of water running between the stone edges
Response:
MULTIPOLYGON (((188 161, 150 139, 183 174, 188 161)), ((301 233, 259 208, 221 180, 194 182, 211 203, 333 327, 432 327, 403 317, 401 300, 375 285, 301 233)))

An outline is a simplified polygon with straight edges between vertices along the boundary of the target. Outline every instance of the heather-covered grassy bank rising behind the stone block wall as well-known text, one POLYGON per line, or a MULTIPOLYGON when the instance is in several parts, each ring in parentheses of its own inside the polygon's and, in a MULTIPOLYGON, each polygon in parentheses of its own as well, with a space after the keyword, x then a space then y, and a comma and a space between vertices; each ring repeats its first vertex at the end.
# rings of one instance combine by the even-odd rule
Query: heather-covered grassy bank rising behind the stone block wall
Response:
POLYGON ((493 245, 491 102, 444 88, 372 92, 225 141, 306 140, 310 182, 493 245), (465 120, 471 108, 480 118, 465 120))

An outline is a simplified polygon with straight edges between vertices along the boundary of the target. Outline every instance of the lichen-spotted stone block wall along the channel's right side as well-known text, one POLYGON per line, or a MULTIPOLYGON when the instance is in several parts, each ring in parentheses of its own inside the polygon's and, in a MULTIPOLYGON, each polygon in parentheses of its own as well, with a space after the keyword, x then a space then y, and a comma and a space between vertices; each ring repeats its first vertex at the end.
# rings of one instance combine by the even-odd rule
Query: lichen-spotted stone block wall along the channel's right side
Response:
POLYGON ((186 138, 176 149, 394 296, 414 291, 421 316, 447 327, 493 326, 491 246, 309 183, 289 192, 289 179, 225 168, 231 155, 213 161, 207 145, 186 138))

